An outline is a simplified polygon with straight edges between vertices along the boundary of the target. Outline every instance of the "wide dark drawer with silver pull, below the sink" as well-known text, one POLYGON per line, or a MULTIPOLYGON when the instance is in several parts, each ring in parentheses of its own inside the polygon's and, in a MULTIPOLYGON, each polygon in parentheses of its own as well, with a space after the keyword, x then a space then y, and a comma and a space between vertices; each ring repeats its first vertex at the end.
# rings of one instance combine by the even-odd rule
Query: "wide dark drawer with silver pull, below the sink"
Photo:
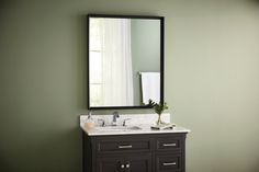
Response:
POLYGON ((149 152, 151 150, 150 139, 102 139, 97 140, 98 153, 113 152, 149 152), (117 141, 115 141, 117 140, 117 141))

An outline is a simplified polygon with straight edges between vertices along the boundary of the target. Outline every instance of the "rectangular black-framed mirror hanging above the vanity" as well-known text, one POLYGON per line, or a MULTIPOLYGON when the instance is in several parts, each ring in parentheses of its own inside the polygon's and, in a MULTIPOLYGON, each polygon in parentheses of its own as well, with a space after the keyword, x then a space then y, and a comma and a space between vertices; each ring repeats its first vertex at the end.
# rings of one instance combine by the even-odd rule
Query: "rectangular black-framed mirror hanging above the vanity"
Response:
POLYGON ((164 16, 88 14, 88 107, 164 102, 164 16))

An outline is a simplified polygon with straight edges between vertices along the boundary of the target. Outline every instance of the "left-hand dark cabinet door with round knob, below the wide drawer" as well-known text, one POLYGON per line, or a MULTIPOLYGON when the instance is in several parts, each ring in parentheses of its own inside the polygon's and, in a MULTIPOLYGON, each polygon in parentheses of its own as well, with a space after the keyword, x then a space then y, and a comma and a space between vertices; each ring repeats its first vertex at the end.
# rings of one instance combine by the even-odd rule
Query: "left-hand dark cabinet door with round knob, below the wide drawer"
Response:
POLYGON ((124 159, 121 157, 98 158, 97 172, 125 172, 124 159))

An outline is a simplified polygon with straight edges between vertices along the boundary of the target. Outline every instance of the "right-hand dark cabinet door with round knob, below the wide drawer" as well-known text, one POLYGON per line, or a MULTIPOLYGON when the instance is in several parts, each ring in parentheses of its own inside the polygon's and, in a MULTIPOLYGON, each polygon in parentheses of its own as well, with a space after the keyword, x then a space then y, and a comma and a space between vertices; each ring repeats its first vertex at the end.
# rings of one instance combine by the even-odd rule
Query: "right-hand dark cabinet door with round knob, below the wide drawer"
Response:
POLYGON ((151 156, 125 157, 125 172, 151 172, 151 156))

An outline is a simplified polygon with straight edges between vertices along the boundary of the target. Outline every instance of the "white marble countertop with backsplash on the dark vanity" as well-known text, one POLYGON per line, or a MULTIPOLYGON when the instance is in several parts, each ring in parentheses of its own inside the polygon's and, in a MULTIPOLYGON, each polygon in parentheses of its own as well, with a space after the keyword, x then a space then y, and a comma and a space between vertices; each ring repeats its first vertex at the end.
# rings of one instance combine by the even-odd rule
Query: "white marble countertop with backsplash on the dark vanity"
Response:
MULTIPOLYGON (((95 127, 89 129, 85 127, 85 122, 87 115, 80 116, 80 127, 88 136, 105 136, 105 135, 140 135, 140 134, 170 134, 170 133, 190 133, 190 129, 187 129, 181 126, 176 126, 173 129, 151 129, 150 126, 157 121, 157 114, 121 114, 119 118, 119 126, 100 126, 98 123, 100 118, 111 122, 112 115, 92 115, 92 119, 95 123, 95 127), (127 122, 127 126, 123 127, 120 122, 125 118, 131 118, 127 122), (139 127, 140 129, 131 129, 131 127, 139 127)), ((170 114, 162 114, 162 122, 170 123, 170 114)))

